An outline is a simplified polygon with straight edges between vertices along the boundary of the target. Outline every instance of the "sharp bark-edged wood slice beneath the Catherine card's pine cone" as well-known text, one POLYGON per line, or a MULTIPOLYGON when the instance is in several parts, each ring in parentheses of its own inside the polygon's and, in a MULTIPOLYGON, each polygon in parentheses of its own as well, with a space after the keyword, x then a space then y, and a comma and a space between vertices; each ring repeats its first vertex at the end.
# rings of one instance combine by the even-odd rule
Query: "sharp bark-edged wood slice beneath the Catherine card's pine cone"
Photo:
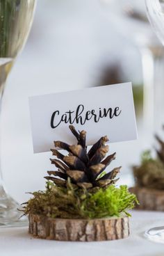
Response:
POLYGON ((129 237, 129 218, 63 219, 30 214, 33 237, 57 241, 107 241, 129 237))

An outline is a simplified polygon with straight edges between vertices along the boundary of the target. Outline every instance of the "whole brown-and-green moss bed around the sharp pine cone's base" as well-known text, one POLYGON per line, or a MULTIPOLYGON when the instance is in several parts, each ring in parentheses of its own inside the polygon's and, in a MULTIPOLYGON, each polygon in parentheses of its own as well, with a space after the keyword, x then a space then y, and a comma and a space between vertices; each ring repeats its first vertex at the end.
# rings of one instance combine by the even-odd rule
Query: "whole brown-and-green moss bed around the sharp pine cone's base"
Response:
POLYGON ((104 218, 120 216, 132 209, 138 200, 127 186, 114 185, 106 189, 76 189, 67 180, 67 187, 47 182, 45 191, 32 193, 33 198, 24 204, 24 214, 40 214, 51 218, 104 218))

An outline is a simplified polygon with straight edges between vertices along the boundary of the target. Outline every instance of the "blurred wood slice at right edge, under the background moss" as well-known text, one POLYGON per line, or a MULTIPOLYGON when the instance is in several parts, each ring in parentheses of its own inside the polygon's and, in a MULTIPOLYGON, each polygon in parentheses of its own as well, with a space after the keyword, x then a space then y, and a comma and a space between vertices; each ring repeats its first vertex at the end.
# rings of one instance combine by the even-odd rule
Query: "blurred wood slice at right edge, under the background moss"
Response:
POLYGON ((140 205, 136 206, 136 209, 164 211, 164 191, 139 186, 134 186, 130 188, 129 191, 136 194, 140 203, 140 205))

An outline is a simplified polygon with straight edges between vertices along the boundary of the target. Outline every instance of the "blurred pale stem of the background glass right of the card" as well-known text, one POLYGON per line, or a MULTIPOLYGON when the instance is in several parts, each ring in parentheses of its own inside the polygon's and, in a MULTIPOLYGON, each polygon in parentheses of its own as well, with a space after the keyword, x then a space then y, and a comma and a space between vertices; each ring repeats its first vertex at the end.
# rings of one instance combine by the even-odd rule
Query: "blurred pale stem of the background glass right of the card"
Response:
POLYGON ((140 49, 142 57, 142 75, 143 75, 143 136, 144 147, 152 146, 154 131, 156 130, 156 98, 159 92, 158 67, 163 66, 162 47, 142 47, 140 49), (158 83, 158 88, 157 88, 158 83))

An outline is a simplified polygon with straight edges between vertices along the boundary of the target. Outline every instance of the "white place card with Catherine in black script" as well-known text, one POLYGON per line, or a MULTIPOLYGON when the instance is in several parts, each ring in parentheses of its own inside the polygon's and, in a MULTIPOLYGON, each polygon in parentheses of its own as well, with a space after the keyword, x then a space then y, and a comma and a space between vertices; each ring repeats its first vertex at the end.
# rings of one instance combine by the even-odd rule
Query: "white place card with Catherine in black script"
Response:
POLYGON ((88 145, 105 135, 109 143, 137 138, 131 83, 33 96, 29 105, 35 153, 54 148, 54 141, 76 143, 69 125, 87 131, 88 145))

